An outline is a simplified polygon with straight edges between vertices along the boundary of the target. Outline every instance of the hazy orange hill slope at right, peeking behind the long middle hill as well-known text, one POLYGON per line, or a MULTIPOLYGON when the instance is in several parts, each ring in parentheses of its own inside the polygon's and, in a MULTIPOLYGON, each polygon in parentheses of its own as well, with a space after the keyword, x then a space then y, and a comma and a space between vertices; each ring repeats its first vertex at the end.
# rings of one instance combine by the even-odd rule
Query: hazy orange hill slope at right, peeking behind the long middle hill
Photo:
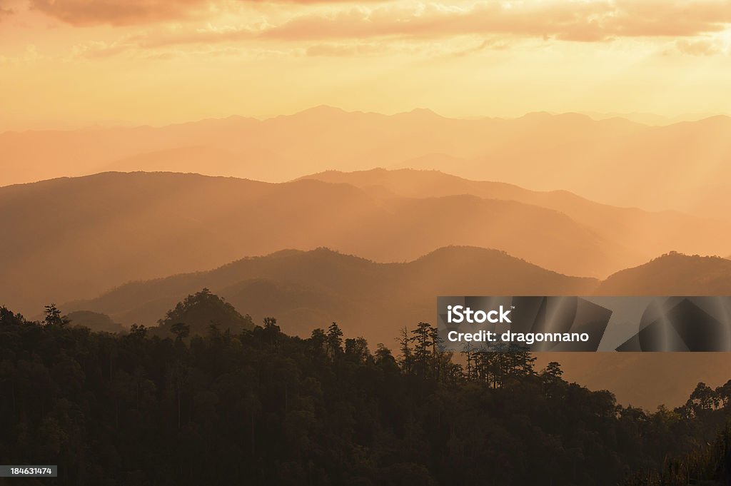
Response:
POLYGON ((399 197, 477 197, 514 200, 566 214, 605 240, 631 248, 641 261, 670 251, 689 254, 725 254, 731 225, 665 210, 650 212, 618 208, 586 200, 568 191, 530 191, 508 183, 469 181, 435 170, 327 171, 306 179, 348 183, 369 194, 399 197))

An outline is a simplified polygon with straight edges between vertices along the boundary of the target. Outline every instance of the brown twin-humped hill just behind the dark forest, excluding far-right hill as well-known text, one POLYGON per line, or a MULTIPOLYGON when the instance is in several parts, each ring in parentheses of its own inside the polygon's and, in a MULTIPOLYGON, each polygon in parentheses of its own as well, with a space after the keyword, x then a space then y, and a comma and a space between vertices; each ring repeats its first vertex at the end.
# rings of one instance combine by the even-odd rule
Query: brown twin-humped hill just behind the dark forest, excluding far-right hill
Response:
POLYGON ((436 295, 577 295, 591 293, 597 284, 484 248, 440 248, 406 263, 376 263, 317 248, 132 282, 93 300, 67 303, 64 311, 95 311, 126 325, 155 325, 181 296, 205 287, 254 322, 276 316, 287 333, 308 335, 337 321, 346 333, 376 343, 393 340, 404 324, 433 321, 436 295))

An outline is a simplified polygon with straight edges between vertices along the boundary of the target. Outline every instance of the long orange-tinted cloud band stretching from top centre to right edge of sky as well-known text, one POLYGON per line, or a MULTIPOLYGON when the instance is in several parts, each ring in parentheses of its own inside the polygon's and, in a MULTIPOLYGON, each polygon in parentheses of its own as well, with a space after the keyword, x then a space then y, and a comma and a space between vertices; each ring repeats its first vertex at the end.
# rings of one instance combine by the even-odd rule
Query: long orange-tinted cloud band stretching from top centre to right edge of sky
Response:
POLYGON ((728 23, 731 1, 482 1, 466 8, 387 5, 354 7, 328 16, 302 15, 268 29, 262 36, 303 40, 509 34, 597 42, 616 37, 692 37, 722 31, 728 23))

